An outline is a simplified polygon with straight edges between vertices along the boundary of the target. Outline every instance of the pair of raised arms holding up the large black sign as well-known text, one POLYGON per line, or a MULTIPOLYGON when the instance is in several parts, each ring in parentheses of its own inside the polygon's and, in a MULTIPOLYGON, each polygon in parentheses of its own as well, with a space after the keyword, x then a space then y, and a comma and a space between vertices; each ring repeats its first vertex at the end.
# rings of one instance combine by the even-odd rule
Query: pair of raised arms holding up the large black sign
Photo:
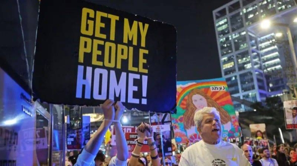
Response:
POLYGON ((93 137, 88 141, 82 153, 78 156, 76 164, 74 166, 95 166, 95 158, 99 152, 100 145, 103 141, 104 135, 109 126, 114 122, 115 129, 115 142, 117 154, 110 159, 108 166, 126 166, 128 159, 128 145, 125 139, 125 135, 120 124, 121 116, 125 110, 125 107, 121 102, 115 102, 113 100, 106 100, 102 105, 104 114, 104 121, 95 132, 93 137), (116 111, 115 111, 116 109, 116 111))

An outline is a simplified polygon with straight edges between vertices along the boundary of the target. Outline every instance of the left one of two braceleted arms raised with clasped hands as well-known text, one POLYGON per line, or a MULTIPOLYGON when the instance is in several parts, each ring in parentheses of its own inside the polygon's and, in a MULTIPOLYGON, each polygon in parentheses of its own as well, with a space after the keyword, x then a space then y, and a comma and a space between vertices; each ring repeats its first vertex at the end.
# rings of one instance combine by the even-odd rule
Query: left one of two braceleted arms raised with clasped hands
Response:
POLYGON ((129 165, 128 166, 135 166, 138 162, 138 159, 140 157, 140 151, 141 148, 145 142, 145 125, 144 124, 140 124, 140 126, 137 127, 136 132, 138 134, 138 140, 137 140, 137 144, 131 154, 131 158, 129 160, 129 165))

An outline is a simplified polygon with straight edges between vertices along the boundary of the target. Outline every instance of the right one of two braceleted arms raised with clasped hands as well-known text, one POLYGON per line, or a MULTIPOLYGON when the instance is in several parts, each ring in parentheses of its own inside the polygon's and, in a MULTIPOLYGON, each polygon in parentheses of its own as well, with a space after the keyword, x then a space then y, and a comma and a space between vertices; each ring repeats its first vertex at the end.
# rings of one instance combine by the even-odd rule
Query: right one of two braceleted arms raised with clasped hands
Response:
POLYGON ((148 124, 146 124, 146 126, 147 126, 146 135, 148 137, 148 146, 150 150, 151 164, 152 166, 160 166, 160 158, 158 156, 156 142, 153 139, 152 127, 148 124), (148 129, 150 131, 148 131, 148 129))

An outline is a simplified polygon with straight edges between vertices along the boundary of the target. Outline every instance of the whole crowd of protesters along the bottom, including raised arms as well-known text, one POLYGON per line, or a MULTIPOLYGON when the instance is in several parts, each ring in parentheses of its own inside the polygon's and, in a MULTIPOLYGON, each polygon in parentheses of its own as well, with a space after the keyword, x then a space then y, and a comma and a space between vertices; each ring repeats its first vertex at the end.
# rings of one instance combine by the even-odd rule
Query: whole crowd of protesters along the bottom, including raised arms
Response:
MULTIPOLYGON (((69 157, 66 166, 297 166, 296 149, 288 145, 273 145, 253 149, 254 143, 244 142, 237 145, 222 140, 222 124, 219 112, 213 107, 204 107, 195 113, 194 122, 201 136, 201 140, 179 154, 172 145, 175 155, 161 158, 159 152, 159 137, 153 135, 153 128, 146 123, 140 124, 136 132, 137 144, 130 154, 125 135, 119 123, 125 107, 121 102, 106 100, 102 105, 104 121, 78 155, 69 157), (116 134, 117 154, 112 158, 105 158, 99 150, 104 134, 111 124, 114 124, 116 134), (148 155, 141 153, 145 141, 148 142, 148 155)), ((256 133, 259 135, 258 132, 256 133)), ((257 138, 258 138, 257 137, 257 138)))

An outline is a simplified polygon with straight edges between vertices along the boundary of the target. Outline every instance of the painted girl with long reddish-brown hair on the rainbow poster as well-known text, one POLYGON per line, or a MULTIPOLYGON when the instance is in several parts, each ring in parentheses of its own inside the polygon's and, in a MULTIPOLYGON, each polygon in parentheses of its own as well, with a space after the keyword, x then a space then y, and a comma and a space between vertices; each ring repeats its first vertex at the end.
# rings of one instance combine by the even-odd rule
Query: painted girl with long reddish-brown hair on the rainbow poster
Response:
POLYGON ((197 111, 204 107, 214 107, 220 113, 222 131, 229 131, 232 127, 231 117, 227 111, 218 105, 210 96, 200 89, 193 89, 188 94, 186 102, 186 111, 184 113, 184 127, 187 131, 188 138, 198 133, 194 123, 194 115, 197 111))

